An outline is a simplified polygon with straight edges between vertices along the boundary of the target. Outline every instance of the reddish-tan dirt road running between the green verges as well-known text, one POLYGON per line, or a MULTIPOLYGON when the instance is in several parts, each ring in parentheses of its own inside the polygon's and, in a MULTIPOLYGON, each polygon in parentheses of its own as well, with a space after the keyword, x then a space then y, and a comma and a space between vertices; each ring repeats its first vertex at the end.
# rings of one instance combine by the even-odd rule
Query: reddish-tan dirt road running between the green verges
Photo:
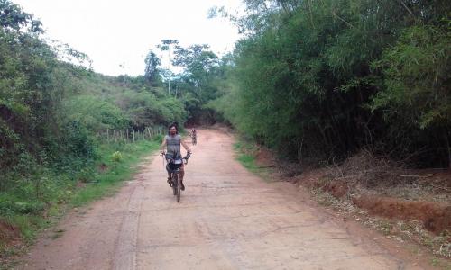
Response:
MULTIPOLYGON (((422 269, 356 236, 288 183, 234 160, 233 139, 200 130, 177 203, 161 157, 120 193, 69 215, 21 269, 422 269)), ((152 162, 151 162, 152 160, 152 162)))

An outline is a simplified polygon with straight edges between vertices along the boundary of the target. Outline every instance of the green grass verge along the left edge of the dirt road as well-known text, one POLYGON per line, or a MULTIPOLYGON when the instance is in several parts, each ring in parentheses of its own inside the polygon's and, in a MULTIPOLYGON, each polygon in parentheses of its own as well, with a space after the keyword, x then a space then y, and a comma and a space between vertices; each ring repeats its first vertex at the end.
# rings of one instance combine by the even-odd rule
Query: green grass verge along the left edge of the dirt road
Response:
MULTIPOLYGON (((133 165, 159 148, 158 139, 101 144, 92 166, 60 175, 49 171, 41 176, 39 189, 28 179, 20 179, 20 188, 0 193, 0 225, 15 233, 0 227, 0 269, 13 267, 11 258, 22 254, 38 231, 54 225, 68 209, 114 194, 137 171, 133 165)), ((62 233, 57 231, 53 237, 59 238, 62 233)))

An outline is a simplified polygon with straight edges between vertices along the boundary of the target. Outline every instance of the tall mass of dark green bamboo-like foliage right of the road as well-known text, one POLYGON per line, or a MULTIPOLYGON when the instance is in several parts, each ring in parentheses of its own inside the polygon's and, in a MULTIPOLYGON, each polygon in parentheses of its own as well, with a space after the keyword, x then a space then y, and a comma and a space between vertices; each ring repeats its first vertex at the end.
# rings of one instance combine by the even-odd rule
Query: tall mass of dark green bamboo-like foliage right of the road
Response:
POLYGON ((371 147, 448 166, 446 1, 244 3, 226 14, 244 39, 209 103, 226 121, 299 161, 371 147))

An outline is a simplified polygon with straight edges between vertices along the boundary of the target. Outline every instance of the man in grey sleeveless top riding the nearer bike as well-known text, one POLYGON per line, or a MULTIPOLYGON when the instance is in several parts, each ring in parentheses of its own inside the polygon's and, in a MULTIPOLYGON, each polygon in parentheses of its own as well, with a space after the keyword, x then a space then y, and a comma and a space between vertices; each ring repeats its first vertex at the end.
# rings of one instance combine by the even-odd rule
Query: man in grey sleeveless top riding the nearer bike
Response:
MULTIPOLYGON (((178 125, 176 122, 170 124, 168 128, 168 135, 164 136, 163 142, 161 143, 160 152, 164 154, 164 147, 166 147, 166 153, 172 158, 181 158, 180 144, 187 150, 191 152, 188 145, 183 142, 181 136, 179 135, 178 125)), ((185 175, 184 165, 182 163, 180 167, 180 180, 181 180, 181 190, 185 190, 185 185, 183 185, 183 176, 185 175)), ((170 172, 168 171, 168 183, 172 183, 170 177, 170 172)))

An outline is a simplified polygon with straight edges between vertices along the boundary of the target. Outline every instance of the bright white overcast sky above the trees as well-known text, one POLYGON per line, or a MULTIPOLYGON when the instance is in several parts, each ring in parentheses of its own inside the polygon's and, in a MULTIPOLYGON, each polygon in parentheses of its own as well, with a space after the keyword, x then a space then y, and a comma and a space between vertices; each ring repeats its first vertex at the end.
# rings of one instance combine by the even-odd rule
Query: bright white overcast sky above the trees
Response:
POLYGON ((110 76, 142 75, 147 52, 161 40, 179 40, 183 46, 206 43, 219 54, 232 50, 237 29, 224 19, 207 19, 207 11, 212 6, 241 6, 241 0, 13 2, 41 20, 47 37, 86 53, 95 71, 110 76))

